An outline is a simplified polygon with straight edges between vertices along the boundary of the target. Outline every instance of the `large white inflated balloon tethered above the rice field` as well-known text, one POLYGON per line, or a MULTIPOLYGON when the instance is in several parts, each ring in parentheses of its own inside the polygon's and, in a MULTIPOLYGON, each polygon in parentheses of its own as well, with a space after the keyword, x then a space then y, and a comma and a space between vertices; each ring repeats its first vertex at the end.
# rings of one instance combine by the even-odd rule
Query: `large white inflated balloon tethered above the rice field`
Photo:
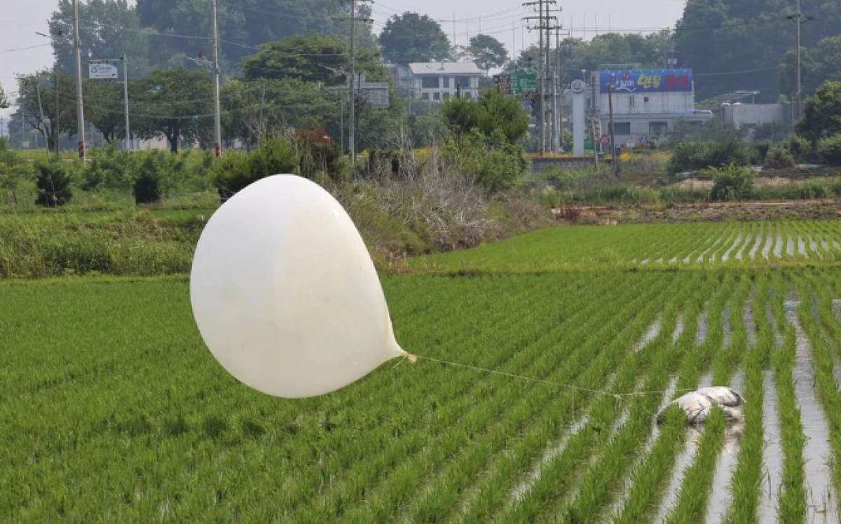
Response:
POLYGON ((263 178, 216 211, 196 247, 190 300, 210 352, 265 394, 326 394, 409 356, 362 236, 302 177, 263 178))

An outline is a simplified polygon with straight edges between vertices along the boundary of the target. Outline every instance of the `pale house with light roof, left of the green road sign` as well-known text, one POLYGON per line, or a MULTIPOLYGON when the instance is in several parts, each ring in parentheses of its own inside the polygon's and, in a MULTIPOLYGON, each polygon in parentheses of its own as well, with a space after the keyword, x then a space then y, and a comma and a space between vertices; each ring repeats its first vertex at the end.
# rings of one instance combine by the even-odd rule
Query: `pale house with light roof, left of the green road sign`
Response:
POLYGON ((473 62, 415 62, 389 66, 391 77, 403 96, 440 102, 455 97, 479 97, 482 71, 473 62))

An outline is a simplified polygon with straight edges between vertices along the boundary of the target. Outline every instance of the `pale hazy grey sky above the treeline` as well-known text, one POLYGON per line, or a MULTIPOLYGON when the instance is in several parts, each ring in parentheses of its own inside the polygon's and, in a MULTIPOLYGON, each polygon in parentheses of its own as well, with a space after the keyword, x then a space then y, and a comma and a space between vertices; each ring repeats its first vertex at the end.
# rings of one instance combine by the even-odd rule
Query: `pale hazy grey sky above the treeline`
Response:
MULTIPOLYGON (((17 73, 48 67, 52 62, 49 42, 35 31, 46 33, 47 19, 56 9, 57 0, 0 0, 0 84, 6 93, 14 93, 17 73), (30 46, 33 49, 16 50, 30 46)), ((608 29, 651 31, 674 25, 683 11, 684 0, 590 0, 557 4, 563 26, 576 37, 591 38, 608 29)), ((522 17, 532 15, 521 2, 512 0, 383 0, 373 3, 374 30, 379 32, 390 15, 404 11, 428 14, 442 23, 442 28, 463 45, 473 34, 492 34, 510 50, 521 50, 536 35, 523 29, 522 17), (456 23, 452 23, 452 19, 456 23)), ((8 111, 0 112, 7 117, 8 111)))

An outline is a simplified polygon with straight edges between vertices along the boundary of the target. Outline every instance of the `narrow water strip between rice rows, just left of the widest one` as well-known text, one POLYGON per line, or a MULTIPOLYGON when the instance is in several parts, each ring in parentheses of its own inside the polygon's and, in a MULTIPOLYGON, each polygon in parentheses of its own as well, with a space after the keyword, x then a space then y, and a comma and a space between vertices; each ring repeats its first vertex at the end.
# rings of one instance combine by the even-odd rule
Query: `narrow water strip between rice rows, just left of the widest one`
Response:
POLYGON ((762 427, 765 434, 765 447, 762 452, 762 460, 764 481, 762 495, 759 497, 757 516, 760 524, 774 524, 777 521, 777 500, 780 499, 783 448, 780 444, 780 413, 777 410, 774 372, 766 371, 763 380, 762 427))

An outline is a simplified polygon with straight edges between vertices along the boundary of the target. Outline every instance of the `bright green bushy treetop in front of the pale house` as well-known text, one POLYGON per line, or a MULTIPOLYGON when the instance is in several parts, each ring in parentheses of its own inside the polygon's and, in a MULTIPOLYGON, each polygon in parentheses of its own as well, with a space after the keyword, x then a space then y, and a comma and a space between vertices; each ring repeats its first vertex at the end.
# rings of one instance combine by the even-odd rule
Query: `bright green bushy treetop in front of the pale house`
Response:
POLYGON ((528 133, 529 119, 521 103, 500 91, 482 93, 475 101, 454 98, 443 104, 442 113, 447 128, 460 141, 472 130, 485 136, 500 133, 507 142, 514 144, 528 133))

